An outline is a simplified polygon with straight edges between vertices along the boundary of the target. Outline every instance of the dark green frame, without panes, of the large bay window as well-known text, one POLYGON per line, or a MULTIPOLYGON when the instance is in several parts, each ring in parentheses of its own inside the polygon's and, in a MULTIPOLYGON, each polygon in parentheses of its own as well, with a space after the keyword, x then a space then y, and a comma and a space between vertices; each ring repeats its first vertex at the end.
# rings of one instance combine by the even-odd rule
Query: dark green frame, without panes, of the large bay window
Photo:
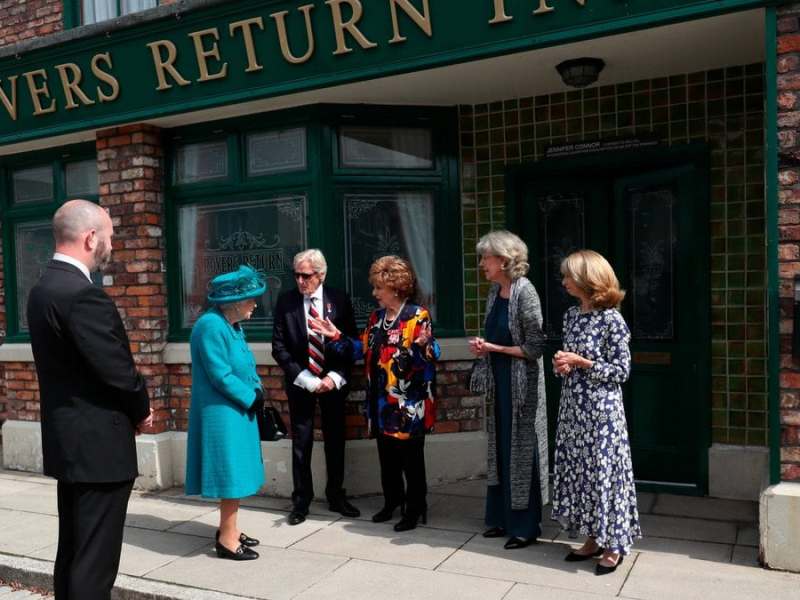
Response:
MULTIPOLYGON (((185 342, 191 329, 183 328, 178 210, 186 204, 218 203, 220 198, 241 201, 279 193, 303 193, 307 202, 306 240, 320 248, 328 261, 327 283, 347 289, 345 272, 344 194, 389 190, 430 191, 434 198, 436 240, 435 281, 439 337, 464 335, 461 206, 458 184, 458 129, 456 111, 440 107, 314 105, 248 115, 201 126, 172 130, 166 140, 165 183, 167 216, 168 339, 185 342), (426 127, 432 130, 432 169, 339 168, 338 129, 342 125, 426 127), (247 135, 274 129, 304 127, 306 169, 249 177, 247 135), (228 140, 229 176, 225 180, 177 184, 174 149, 213 136, 228 140)), ((251 341, 271 341, 272 331, 250 329, 251 341)))

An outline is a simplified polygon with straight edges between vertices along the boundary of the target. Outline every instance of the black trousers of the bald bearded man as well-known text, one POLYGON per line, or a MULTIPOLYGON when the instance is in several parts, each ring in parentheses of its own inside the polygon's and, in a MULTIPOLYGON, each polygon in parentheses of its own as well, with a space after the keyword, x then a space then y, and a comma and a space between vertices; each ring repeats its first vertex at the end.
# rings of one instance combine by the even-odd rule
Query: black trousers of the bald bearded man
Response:
POLYGON ((56 600, 110 600, 133 480, 58 482, 56 600))

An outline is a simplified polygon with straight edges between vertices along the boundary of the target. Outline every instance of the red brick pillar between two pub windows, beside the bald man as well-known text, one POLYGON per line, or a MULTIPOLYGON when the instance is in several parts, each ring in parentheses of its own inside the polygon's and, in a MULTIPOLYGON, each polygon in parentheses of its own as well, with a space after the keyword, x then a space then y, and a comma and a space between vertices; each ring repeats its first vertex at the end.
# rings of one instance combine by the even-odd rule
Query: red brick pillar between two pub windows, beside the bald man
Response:
POLYGON ((163 151, 149 125, 97 132, 100 204, 114 222, 113 263, 103 285, 122 315, 139 371, 155 409, 150 433, 173 427, 164 365, 167 286, 164 262, 163 151))

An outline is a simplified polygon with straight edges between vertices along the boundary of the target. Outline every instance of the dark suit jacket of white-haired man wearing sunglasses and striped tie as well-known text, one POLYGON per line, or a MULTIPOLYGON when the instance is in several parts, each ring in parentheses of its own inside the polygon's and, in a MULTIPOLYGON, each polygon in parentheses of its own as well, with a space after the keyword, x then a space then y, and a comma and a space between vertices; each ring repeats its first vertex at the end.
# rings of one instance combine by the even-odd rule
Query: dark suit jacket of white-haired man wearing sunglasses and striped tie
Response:
MULTIPOLYGON (((322 287, 323 318, 329 318, 348 337, 356 337, 356 320, 350 297, 335 288, 322 287)), ((303 295, 295 288, 278 298, 272 331, 272 356, 286 376, 286 389, 291 389, 301 371, 308 368, 308 328, 303 295)), ((325 372, 336 371, 350 380, 352 363, 331 351, 325 343, 325 372)), ((323 373, 324 375, 324 373, 323 373)))

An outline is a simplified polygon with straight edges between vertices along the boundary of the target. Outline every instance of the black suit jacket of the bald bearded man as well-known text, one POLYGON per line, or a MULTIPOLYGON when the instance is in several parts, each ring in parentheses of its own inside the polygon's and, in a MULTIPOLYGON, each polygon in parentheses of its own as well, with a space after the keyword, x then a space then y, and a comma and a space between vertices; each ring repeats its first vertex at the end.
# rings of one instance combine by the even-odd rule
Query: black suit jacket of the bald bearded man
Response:
POLYGON ((77 267, 51 261, 28 298, 44 473, 70 483, 135 479, 135 428, 150 411, 117 307, 77 267))

